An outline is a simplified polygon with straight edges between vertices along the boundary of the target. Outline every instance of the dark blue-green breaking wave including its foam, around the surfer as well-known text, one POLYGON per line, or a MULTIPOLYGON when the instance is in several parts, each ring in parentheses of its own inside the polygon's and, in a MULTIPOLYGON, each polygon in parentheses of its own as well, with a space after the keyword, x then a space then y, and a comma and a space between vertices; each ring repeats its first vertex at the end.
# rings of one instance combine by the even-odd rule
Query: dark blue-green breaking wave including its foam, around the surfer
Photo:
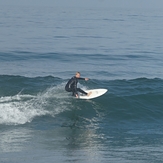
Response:
POLYGON ((79 83, 83 89, 108 89, 105 95, 93 100, 72 98, 64 90, 67 80, 52 76, 28 78, 1 75, 0 82, 1 125, 32 123, 41 118, 56 118, 60 125, 65 125, 66 120, 77 118, 71 117, 71 114, 80 117, 81 126, 99 122, 104 125, 163 119, 162 79, 92 79, 79 83))

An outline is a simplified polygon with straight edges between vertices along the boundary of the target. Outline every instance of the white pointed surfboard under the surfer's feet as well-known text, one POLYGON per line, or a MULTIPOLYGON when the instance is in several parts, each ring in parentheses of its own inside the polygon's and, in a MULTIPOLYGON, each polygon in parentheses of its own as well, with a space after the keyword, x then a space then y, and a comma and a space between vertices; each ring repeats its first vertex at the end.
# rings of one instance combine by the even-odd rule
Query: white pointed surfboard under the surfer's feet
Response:
POLYGON ((79 94, 79 99, 92 99, 105 94, 108 90, 107 89, 91 89, 85 90, 85 92, 89 93, 92 92, 89 96, 79 94))

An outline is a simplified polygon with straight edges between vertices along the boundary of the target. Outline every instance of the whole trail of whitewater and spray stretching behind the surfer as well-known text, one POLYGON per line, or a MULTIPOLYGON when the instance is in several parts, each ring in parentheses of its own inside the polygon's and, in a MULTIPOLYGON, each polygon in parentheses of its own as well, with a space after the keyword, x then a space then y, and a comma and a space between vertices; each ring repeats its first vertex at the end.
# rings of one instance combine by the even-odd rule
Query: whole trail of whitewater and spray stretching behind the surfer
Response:
POLYGON ((63 92, 63 84, 48 88, 36 96, 17 94, 1 97, 0 124, 25 124, 43 115, 55 117, 56 114, 68 109, 69 99, 69 96, 63 92))

